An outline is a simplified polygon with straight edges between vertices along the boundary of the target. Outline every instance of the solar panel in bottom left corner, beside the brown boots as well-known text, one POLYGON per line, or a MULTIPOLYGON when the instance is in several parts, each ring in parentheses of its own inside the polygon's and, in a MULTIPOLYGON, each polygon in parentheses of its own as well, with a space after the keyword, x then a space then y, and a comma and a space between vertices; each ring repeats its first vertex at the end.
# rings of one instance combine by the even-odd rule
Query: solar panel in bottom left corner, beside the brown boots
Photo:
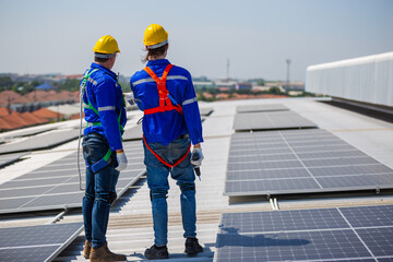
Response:
POLYGON ((82 229, 82 223, 0 228, 0 261, 52 261, 82 229))

